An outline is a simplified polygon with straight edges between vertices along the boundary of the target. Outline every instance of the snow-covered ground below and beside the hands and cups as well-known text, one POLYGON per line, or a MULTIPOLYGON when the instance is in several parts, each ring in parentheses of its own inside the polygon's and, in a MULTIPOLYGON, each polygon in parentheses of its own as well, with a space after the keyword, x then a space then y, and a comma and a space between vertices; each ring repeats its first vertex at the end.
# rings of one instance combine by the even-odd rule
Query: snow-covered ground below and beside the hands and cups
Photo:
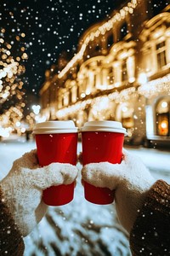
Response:
MULTIPOLYGON (((32 148, 36 148, 35 143, 26 143, 23 139, 0 143, 0 179, 15 159, 32 148)), ((170 152, 147 148, 127 150, 139 155, 156 178, 170 183, 170 152)), ((98 206, 86 201, 80 175, 74 200, 63 207, 49 207, 46 217, 26 237, 25 244, 25 256, 131 255, 128 236, 118 223, 114 204, 98 206)))

